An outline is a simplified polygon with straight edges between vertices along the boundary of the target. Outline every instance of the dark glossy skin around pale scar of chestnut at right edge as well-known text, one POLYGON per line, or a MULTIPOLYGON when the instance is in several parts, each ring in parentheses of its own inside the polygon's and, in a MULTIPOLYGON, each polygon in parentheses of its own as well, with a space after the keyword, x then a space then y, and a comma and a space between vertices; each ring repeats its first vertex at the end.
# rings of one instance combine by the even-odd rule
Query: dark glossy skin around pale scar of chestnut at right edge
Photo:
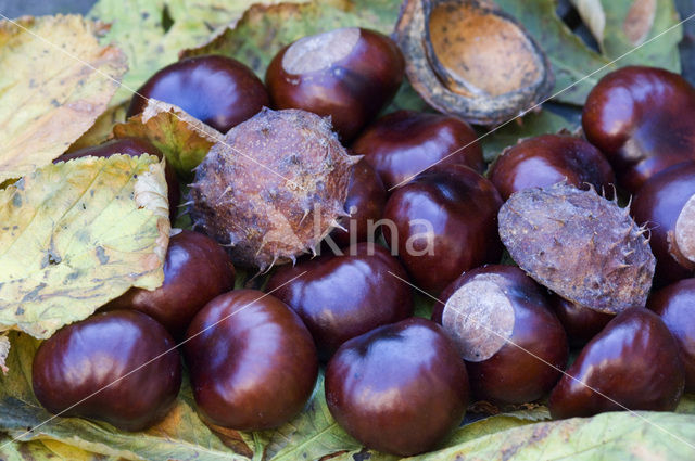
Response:
MULTIPOLYGON (((695 262, 677 251, 679 239, 675 233, 681 214, 693 195, 695 162, 688 162, 652 177, 632 201, 634 220, 650 232, 649 244, 656 256, 656 285, 691 277, 695 270, 695 262)), ((687 225, 687 221, 682 223, 687 225)))

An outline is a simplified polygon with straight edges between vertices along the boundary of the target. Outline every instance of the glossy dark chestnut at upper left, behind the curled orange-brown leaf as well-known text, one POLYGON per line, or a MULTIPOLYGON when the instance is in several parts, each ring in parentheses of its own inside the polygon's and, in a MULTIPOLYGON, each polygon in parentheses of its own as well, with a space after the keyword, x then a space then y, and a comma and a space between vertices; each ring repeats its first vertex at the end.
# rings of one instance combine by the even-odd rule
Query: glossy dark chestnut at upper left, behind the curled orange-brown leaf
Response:
POLYGON ((132 97, 127 116, 141 113, 149 98, 177 105, 223 133, 269 105, 253 71, 220 55, 188 57, 160 69, 132 97))

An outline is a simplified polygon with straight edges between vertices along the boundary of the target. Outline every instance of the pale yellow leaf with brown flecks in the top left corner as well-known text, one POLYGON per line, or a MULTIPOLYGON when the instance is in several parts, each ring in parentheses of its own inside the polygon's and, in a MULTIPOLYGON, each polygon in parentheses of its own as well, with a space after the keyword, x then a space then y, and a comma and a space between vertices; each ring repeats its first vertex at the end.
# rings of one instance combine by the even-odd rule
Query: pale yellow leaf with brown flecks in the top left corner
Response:
POLYGON ((49 164, 105 111, 127 65, 103 30, 81 16, 0 22, 0 182, 49 164))

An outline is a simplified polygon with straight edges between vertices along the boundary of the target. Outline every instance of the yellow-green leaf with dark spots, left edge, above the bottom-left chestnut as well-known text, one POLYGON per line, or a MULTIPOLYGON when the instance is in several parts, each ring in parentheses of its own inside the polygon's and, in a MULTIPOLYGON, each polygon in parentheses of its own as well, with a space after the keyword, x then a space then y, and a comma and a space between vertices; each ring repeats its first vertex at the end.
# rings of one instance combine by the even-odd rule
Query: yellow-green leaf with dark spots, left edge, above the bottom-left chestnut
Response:
POLYGON ((61 162, 0 191, 0 330, 49 337, 130 286, 160 286, 167 216, 151 155, 61 162))

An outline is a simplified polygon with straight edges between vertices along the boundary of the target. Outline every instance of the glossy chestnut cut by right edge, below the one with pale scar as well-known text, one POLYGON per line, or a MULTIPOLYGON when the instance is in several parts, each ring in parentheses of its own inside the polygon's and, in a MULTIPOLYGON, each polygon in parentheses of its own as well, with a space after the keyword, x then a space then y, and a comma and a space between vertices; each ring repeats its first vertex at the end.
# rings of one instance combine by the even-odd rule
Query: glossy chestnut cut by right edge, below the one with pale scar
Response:
POLYGON ((695 279, 681 280, 654 293, 647 307, 661 317, 681 349, 685 392, 695 393, 695 279))

